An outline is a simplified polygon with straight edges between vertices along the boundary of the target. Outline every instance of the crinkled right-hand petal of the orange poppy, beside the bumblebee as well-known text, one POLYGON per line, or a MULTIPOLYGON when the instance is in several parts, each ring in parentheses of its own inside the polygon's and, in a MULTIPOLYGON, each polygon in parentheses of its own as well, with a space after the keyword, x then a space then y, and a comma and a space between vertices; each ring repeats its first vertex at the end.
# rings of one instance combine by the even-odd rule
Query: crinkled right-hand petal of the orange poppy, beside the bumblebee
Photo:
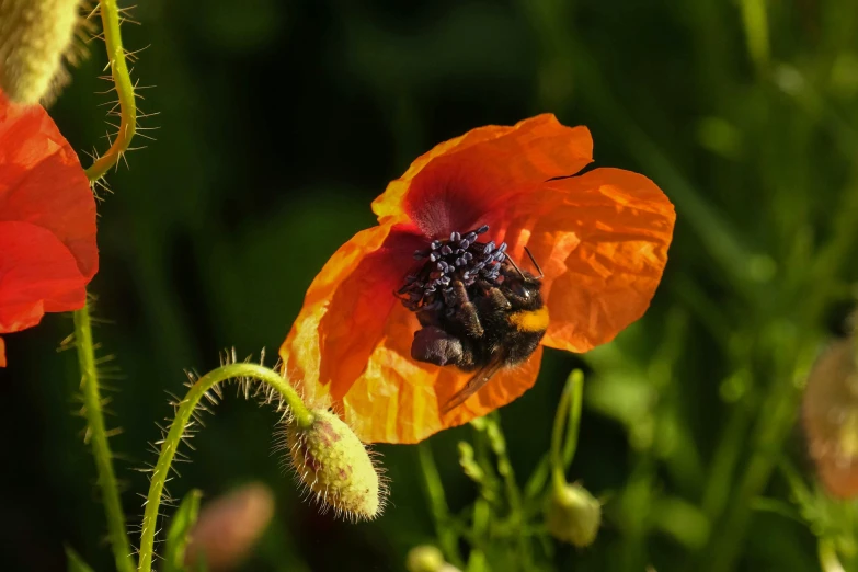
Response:
POLYGON ((667 262, 676 214, 643 175, 596 169, 549 181, 500 204, 485 220, 512 256, 545 272, 550 324, 542 343, 586 352, 614 339, 650 305, 667 262))

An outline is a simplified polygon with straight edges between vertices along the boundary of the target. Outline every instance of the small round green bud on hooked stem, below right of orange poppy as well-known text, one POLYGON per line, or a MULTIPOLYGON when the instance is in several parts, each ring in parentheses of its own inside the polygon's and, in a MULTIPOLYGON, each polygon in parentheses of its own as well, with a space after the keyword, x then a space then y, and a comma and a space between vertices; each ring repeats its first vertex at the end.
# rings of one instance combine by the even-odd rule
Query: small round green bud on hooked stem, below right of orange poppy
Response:
POLYGON ((546 528, 563 542, 593 544, 602 523, 602 504, 580 484, 556 488, 546 506, 546 528))

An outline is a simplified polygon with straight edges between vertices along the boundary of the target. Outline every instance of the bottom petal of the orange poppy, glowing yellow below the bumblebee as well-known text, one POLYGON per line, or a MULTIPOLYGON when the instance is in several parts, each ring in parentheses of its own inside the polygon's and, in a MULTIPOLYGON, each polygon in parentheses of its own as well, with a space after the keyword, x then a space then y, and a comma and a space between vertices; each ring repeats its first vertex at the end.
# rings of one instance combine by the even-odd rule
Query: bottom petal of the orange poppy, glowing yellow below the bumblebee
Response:
POLYGON ((465 403, 442 415, 444 404, 473 374, 412 359, 411 341, 417 328, 414 313, 397 304, 366 370, 336 402, 364 442, 419 443, 514 401, 536 382, 541 347, 520 366, 499 371, 465 403))

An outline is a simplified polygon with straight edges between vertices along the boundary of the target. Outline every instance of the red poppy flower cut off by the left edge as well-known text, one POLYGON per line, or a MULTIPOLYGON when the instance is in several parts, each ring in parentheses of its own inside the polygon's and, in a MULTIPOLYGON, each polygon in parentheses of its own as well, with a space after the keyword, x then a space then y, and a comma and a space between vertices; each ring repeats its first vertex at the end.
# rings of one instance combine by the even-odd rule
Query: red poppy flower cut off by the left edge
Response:
POLYGON ((95 199, 78 156, 45 110, 0 92, 0 333, 82 308, 98 268, 95 199))

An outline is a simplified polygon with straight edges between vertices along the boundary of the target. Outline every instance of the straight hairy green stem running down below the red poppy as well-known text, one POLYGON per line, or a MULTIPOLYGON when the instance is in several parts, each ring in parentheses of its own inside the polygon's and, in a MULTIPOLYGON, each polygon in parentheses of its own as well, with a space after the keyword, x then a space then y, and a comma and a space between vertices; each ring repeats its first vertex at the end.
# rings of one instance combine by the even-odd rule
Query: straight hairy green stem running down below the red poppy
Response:
POLYGON ((104 428, 104 412, 99 392, 99 376, 95 370, 95 351, 92 344, 92 327, 89 308, 84 306, 75 312, 75 340, 77 342, 78 363, 81 371, 83 391, 83 412, 87 416, 88 436, 95 457, 104 514, 107 517, 107 533, 119 572, 133 572, 131 545, 125 530, 125 514, 119 502, 119 488, 113 471, 113 454, 104 428))

